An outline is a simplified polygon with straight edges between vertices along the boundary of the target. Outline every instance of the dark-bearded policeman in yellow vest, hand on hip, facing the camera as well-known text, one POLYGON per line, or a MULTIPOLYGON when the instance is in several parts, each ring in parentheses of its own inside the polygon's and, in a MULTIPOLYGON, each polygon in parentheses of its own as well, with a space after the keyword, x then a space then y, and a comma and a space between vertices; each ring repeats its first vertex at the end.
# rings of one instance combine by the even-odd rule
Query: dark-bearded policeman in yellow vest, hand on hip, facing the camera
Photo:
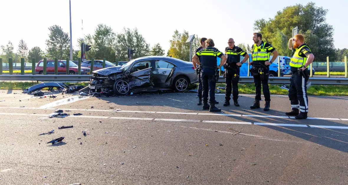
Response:
POLYGON ((262 35, 260 33, 254 33, 253 36, 254 45, 252 47, 252 73, 255 83, 255 102, 251 109, 260 108, 261 100, 261 83, 263 86, 263 95, 266 103, 264 104, 264 111, 269 111, 271 96, 268 87, 269 65, 276 60, 278 51, 269 43, 262 41, 262 35), (270 53, 273 53, 271 61, 269 61, 270 53))

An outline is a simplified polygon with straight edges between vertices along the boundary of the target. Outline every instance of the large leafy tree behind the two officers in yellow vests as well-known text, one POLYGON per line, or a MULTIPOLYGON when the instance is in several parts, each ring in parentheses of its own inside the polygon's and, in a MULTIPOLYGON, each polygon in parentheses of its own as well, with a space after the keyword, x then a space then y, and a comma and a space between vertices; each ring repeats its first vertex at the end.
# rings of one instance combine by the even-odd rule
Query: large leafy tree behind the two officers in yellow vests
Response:
POLYGON ((290 56, 287 42, 292 37, 292 28, 298 26, 298 33, 304 35, 315 61, 326 61, 326 56, 334 61, 337 54, 333 45, 333 27, 326 23, 327 11, 316 7, 314 2, 305 6, 296 4, 278 11, 274 18, 256 20, 254 30, 262 34, 264 41, 275 46, 279 55, 290 56))

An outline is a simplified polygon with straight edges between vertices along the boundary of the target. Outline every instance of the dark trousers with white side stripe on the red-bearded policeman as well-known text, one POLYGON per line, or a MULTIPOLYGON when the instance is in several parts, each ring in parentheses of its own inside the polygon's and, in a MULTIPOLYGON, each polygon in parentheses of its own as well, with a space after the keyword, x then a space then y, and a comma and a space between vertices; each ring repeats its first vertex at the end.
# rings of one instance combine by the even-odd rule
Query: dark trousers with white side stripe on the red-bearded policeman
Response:
MULTIPOLYGON (((308 70, 304 70, 305 74, 306 72, 308 70)), ((291 75, 288 95, 291 108, 298 108, 301 112, 308 112, 307 81, 308 77, 303 77, 300 72, 291 75)))

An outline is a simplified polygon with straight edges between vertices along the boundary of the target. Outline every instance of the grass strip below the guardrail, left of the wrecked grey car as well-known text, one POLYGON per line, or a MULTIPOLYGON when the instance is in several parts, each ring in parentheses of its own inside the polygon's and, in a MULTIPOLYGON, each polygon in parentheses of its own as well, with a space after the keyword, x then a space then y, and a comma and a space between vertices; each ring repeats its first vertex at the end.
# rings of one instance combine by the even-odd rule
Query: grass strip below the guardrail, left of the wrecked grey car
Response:
MULTIPOLYGON (((12 90, 24 90, 33 85, 36 85, 36 82, 21 82, 21 81, 0 81, 0 89, 12 89, 12 90)), ((78 82, 78 83, 65 83, 66 85, 82 85, 88 86, 88 82, 78 82)), ((48 88, 44 89, 47 90, 48 88)))

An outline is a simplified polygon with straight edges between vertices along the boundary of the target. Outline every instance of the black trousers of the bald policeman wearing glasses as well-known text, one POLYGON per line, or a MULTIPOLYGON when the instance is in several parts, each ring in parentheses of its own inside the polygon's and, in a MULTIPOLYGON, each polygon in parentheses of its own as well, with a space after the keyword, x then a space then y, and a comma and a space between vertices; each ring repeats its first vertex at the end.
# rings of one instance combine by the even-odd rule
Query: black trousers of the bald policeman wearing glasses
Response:
POLYGON ((233 100, 238 100, 238 81, 239 81, 239 73, 240 69, 238 67, 234 70, 225 69, 225 83, 226 83, 226 94, 225 99, 226 101, 229 101, 231 99, 231 92, 233 96, 233 100), (237 76, 234 78, 234 75, 237 74, 237 76), (232 86, 231 86, 232 84, 232 86))

